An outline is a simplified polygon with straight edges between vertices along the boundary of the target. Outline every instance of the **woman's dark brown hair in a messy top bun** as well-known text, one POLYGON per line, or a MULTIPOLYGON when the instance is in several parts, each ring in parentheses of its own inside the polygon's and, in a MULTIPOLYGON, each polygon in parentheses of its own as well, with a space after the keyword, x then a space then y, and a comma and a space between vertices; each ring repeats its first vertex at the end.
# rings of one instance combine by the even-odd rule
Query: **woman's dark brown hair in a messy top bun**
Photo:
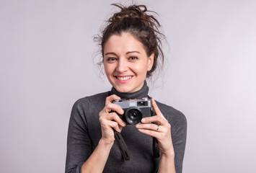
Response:
POLYGON ((149 11, 144 5, 112 5, 118 6, 120 12, 113 14, 112 17, 107 20, 107 27, 102 31, 102 37, 98 37, 102 57, 104 56, 105 43, 110 36, 121 35, 123 32, 127 32, 136 37, 136 39, 144 45, 147 56, 151 56, 151 54, 154 53, 154 64, 151 71, 148 71, 146 74, 147 77, 150 77, 158 65, 158 58, 162 58, 162 63, 164 62, 161 41, 164 35, 159 32, 161 25, 152 14, 148 14, 156 14, 156 12, 149 11))

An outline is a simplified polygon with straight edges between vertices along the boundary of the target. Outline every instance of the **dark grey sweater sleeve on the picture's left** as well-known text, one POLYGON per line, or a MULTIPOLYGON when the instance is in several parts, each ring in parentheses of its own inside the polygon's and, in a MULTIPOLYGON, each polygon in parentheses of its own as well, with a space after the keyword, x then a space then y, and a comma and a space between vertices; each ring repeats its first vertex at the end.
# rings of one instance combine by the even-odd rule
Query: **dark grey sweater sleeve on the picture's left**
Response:
MULTIPOLYGON (((66 173, 80 173, 81 166, 92 154, 87 120, 83 105, 89 105, 87 97, 76 101, 71 110, 67 138, 66 173)), ((87 106, 89 109, 89 106, 87 106)))

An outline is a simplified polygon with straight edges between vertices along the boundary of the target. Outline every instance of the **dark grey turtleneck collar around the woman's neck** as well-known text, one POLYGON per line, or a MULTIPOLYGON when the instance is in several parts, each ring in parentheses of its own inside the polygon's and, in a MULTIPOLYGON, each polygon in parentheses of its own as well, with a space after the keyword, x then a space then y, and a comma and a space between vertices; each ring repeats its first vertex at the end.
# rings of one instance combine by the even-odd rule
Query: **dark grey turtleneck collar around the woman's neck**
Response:
POLYGON ((148 97, 149 86, 147 86, 146 81, 144 81, 144 86, 137 92, 118 92, 114 87, 111 89, 111 94, 116 94, 121 99, 142 99, 143 97, 148 97))

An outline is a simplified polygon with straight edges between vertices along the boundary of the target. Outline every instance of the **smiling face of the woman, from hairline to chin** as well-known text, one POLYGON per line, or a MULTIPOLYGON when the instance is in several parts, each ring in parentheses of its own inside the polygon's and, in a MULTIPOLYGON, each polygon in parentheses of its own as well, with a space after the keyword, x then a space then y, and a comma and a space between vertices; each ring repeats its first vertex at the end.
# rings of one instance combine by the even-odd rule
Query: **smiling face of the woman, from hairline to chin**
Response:
POLYGON ((154 63, 154 53, 147 56, 144 45, 128 33, 110 36, 103 56, 107 79, 118 92, 141 89, 154 63))

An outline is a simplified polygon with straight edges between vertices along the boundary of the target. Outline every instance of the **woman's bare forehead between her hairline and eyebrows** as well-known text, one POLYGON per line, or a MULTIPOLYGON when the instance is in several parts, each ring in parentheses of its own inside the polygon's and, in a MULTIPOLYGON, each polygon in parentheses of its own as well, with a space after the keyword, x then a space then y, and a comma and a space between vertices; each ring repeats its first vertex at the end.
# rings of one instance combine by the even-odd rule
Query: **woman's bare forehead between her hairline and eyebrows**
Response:
POLYGON ((144 45, 129 33, 123 33, 121 35, 112 35, 109 37, 104 46, 104 53, 107 52, 127 52, 138 51, 146 53, 144 45))

